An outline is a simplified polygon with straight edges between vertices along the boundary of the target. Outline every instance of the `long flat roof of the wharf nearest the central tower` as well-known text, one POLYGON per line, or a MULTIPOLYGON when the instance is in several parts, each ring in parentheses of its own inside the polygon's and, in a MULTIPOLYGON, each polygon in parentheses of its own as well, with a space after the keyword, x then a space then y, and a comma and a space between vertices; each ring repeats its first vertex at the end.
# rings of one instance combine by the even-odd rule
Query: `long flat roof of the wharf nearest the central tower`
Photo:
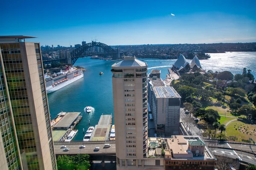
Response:
POLYGON ((108 139, 112 124, 112 115, 101 115, 98 125, 95 126, 90 141, 105 141, 108 139))

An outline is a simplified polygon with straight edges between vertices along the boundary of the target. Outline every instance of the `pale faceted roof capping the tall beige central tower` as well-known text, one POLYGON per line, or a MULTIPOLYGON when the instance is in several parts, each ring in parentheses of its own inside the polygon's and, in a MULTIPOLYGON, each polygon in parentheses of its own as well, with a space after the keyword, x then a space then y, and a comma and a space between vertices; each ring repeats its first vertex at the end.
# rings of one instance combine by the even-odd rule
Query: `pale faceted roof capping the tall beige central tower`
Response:
POLYGON ((147 63, 140 61, 139 59, 136 59, 136 57, 125 57, 122 61, 117 62, 113 64, 111 67, 112 68, 117 68, 117 67, 147 67, 147 63))

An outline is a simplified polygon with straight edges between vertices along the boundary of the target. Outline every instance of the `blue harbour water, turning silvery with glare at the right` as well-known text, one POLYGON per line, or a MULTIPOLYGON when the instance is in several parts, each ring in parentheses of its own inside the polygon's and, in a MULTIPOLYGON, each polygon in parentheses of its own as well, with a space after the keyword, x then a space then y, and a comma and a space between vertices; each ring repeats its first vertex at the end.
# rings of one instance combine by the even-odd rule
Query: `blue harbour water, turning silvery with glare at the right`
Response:
MULTIPOLYGON (((256 77, 256 52, 227 52, 210 55, 210 59, 200 60, 203 69, 230 71, 233 74, 238 74, 245 67, 252 70, 252 74, 256 77)), ((147 62, 148 73, 152 69, 161 70, 162 79, 166 78, 167 68, 170 68, 176 61, 176 59, 140 60, 147 62)), ((90 59, 89 57, 80 58, 76 61, 75 66, 79 65, 87 69, 87 71, 84 71, 84 78, 52 94, 48 94, 49 110, 52 119, 61 111, 82 113, 83 119, 76 126, 79 132, 73 139, 74 141, 82 141, 84 137, 83 128, 86 131, 89 126, 95 126, 102 113, 112 113, 113 115, 111 65, 115 62, 118 61, 90 59), (100 71, 104 74, 99 75, 100 71), (84 112, 86 106, 92 106, 94 111, 87 114, 84 112)), ((189 60, 190 62, 191 60, 189 60)))

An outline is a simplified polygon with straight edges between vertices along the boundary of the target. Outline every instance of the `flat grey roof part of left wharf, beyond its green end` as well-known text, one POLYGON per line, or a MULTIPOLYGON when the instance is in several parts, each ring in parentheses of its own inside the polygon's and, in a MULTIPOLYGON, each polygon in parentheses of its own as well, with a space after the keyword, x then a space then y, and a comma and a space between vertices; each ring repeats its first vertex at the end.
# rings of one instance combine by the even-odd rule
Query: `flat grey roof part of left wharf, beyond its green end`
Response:
POLYGON ((76 118, 79 116, 80 112, 70 112, 65 114, 62 119, 56 123, 54 128, 69 128, 76 118))

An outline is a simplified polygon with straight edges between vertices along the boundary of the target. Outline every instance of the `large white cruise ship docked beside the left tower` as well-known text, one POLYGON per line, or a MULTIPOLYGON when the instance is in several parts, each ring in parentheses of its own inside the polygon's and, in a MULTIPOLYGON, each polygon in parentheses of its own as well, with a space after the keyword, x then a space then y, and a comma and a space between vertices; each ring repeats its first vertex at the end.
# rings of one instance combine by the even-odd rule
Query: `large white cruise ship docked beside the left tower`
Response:
POLYGON ((66 67, 67 68, 64 71, 61 70, 59 73, 44 75, 47 94, 57 91, 84 77, 83 71, 78 70, 71 65, 66 65, 66 67))

